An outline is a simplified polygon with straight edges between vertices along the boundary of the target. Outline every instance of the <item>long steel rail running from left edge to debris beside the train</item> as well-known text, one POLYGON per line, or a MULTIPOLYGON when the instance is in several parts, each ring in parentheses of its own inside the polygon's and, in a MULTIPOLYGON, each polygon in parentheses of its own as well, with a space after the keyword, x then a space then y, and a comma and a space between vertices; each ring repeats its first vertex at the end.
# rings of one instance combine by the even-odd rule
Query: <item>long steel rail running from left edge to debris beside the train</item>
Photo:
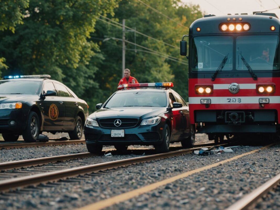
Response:
POLYGON ((85 166, 80 166, 80 167, 73 167, 71 169, 63 169, 63 170, 59 170, 59 171, 46 172, 46 173, 34 174, 34 175, 29 175, 29 176, 24 176, 24 177, 19 177, 19 178, 7 179, 7 180, 0 181, 0 191, 7 191, 7 190, 10 190, 13 188, 24 187, 24 186, 29 186, 29 185, 39 184, 39 183, 45 183, 48 181, 55 181, 58 179, 76 177, 78 175, 83 175, 83 174, 92 173, 92 172, 98 172, 100 170, 107 170, 107 169, 132 165, 132 164, 141 163, 141 162, 149 162, 152 160, 174 157, 174 156, 183 155, 186 153, 191 153, 193 150, 197 150, 197 149, 200 149, 203 147, 205 147, 205 146, 184 149, 184 150, 171 151, 171 152, 161 153, 161 154, 156 154, 156 155, 146 155, 146 156, 142 156, 142 157, 127 158, 127 159, 116 160, 116 161, 111 161, 111 162, 85 165, 85 166))

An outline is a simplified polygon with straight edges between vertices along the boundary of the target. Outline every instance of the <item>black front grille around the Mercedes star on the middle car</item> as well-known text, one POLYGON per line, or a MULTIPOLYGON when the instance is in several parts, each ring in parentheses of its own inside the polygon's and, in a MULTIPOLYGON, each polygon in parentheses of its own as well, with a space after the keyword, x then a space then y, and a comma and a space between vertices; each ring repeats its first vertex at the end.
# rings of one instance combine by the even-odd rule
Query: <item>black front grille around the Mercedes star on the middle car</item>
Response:
POLYGON ((100 127, 103 128, 130 128, 137 125, 138 119, 137 118, 105 118, 100 119, 100 127), (122 124, 120 126, 115 126, 115 120, 119 119, 122 124))

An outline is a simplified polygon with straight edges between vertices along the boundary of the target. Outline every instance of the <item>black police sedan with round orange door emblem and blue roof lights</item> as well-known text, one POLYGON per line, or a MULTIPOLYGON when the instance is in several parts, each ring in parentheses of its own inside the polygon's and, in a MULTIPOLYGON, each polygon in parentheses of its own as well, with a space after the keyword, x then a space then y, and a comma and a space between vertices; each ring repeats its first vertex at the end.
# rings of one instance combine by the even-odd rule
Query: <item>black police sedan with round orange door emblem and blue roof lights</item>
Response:
POLYGON ((5 141, 35 142, 39 134, 68 132, 81 139, 88 105, 50 75, 5 76, 0 80, 0 133, 5 141))

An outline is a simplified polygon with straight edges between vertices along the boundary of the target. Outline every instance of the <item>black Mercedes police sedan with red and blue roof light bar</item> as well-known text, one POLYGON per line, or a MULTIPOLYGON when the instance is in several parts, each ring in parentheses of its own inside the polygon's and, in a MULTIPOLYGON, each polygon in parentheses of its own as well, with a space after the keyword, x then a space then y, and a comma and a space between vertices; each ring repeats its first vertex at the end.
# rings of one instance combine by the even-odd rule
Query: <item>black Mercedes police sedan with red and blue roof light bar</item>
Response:
POLYGON ((87 149, 102 151, 103 145, 126 150, 128 145, 154 145, 158 152, 169 151, 169 143, 191 147, 195 128, 190 124, 189 108, 174 90, 173 83, 120 85, 104 104, 86 120, 87 149))

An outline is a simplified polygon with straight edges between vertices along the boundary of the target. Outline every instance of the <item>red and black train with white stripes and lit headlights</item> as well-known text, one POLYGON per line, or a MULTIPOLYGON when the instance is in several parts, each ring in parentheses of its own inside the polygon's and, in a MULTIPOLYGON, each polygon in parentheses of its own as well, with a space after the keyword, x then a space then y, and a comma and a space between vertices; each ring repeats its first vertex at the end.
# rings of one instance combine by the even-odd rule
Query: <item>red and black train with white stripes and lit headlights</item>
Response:
POLYGON ((279 32, 274 13, 206 15, 191 24, 180 54, 188 58, 190 120, 197 133, 219 142, 278 132, 279 32))

